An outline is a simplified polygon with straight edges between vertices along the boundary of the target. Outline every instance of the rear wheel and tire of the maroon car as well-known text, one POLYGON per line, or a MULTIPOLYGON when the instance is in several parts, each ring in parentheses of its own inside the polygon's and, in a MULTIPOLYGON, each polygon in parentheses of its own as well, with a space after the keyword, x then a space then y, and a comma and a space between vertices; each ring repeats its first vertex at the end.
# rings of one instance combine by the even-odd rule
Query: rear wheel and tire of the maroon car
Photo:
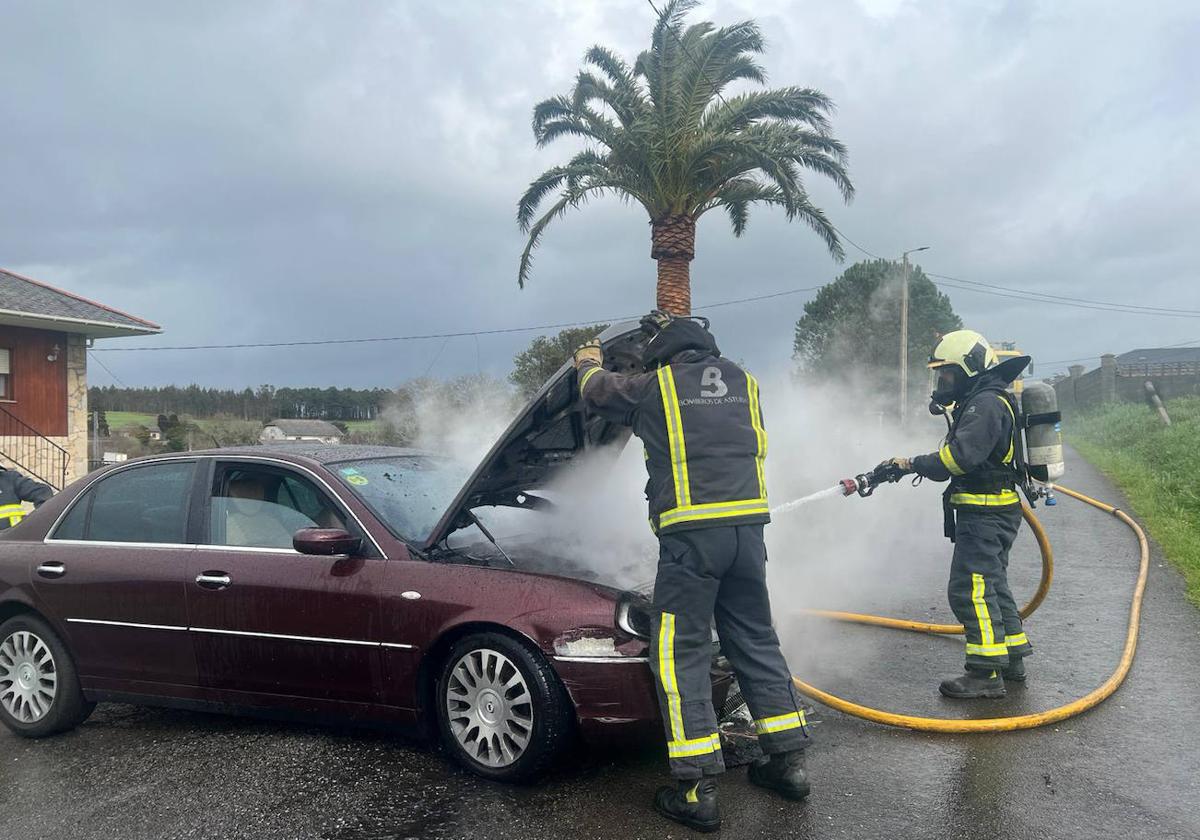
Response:
POLYGON ((74 660, 37 616, 0 624, 0 721, 22 738, 73 730, 96 708, 79 688, 74 660))

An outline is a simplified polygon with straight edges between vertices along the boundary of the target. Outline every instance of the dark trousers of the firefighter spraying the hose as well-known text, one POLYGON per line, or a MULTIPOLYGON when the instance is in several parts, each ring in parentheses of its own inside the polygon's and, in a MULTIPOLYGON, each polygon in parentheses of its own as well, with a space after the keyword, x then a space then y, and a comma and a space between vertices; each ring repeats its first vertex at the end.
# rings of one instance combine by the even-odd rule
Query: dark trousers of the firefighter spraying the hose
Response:
POLYGON ((1033 652, 1008 587, 1008 552, 1021 527, 1021 506, 960 508, 956 512, 947 594, 966 629, 966 664, 970 668, 1003 667, 1009 658, 1033 652))

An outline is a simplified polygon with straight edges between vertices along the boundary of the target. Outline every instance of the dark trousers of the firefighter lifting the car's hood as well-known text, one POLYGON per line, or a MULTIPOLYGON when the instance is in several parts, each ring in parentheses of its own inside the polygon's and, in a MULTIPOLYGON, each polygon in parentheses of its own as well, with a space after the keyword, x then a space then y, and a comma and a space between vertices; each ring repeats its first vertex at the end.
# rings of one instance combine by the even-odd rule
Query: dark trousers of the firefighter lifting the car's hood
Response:
POLYGON ((650 667, 671 773, 725 770, 713 709, 712 623, 767 754, 804 748, 809 727, 770 623, 763 527, 720 526, 659 538, 650 667))

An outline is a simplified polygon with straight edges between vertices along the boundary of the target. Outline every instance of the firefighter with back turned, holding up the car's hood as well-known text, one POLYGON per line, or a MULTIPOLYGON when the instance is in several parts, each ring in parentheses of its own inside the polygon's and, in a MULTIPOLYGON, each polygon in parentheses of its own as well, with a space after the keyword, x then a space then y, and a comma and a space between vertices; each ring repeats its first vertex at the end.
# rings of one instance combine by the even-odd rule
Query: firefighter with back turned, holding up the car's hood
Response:
POLYGON ((599 342, 581 347, 575 364, 587 409, 631 426, 646 446, 659 538, 650 664, 677 780, 659 790, 655 808, 715 830, 725 764, 709 676, 714 618, 768 756, 750 780, 790 799, 809 793, 809 727, 767 595, 767 432, 758 383, 721 358, 706 319, 654 312, 642 325, 646 372, 605 370, 599 342))

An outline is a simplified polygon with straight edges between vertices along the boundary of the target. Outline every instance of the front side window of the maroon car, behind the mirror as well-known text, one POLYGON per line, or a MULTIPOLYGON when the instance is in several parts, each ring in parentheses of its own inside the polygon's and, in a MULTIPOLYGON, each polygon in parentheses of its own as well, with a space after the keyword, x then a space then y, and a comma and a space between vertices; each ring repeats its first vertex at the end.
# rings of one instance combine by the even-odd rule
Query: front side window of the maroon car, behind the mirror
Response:
POLYGON ((280 469, 227 466, 212 485, 209 544, 290 548, 301 528, 346 528, 337 506, 312 481, 280 469))

